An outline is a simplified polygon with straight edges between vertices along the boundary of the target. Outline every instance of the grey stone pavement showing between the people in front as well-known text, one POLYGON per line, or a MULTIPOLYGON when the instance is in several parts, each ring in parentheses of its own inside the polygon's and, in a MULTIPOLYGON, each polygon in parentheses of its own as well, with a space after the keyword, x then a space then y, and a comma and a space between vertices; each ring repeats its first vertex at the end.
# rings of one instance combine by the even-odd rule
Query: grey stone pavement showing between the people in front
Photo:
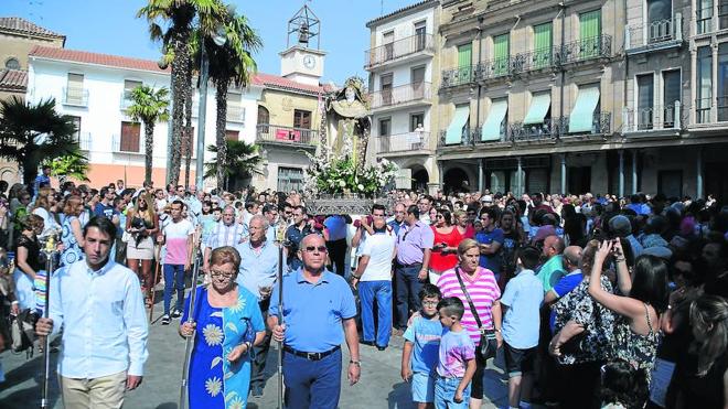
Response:
MULTIPOLYGON (((154 306, 156 319, 161 314, 161 305, 154 306)), ((149 337, 149 359, 144 366, 144 378, 139 389, 127 394, 125 408, 131 409, 174 409, 178 407, 182 374, 184 341, 176 333, 179 321, 169 326, 152 323, 149 337)), ((409 386, 399 377, 403 338, 393 336, 390 346, 379 352, 373 346, 361 345, 362 378, 358 384, 349 386, 346 374, 342 374, 340 408, 414 408, 409 386)), ((346 347, 344 362, 349 360, 346 347)), ((53 355, 53 366, 55 358, 53 355)), ((40 407, 43 355, 38 352, 31 359, 25 354, 0 354, 7 381, 0 384, 0 408, 28 409, 40 407)), ((264 396, 248 400, 248 408, 276 408, 277 402, 277 349, 271 346, 268 355, 268 381, 264 396)), ((345 367, 345 366, 344 366, 345 367)), ((484 408, 506 405, 507 388, 502 380, 502 372, 493 366, 486 369, 484 408), (492 402, 494 403, 492 403, 492 402)), ((55 373, 51 381, 50 408, 63 408, 58 398, 55 373)))

